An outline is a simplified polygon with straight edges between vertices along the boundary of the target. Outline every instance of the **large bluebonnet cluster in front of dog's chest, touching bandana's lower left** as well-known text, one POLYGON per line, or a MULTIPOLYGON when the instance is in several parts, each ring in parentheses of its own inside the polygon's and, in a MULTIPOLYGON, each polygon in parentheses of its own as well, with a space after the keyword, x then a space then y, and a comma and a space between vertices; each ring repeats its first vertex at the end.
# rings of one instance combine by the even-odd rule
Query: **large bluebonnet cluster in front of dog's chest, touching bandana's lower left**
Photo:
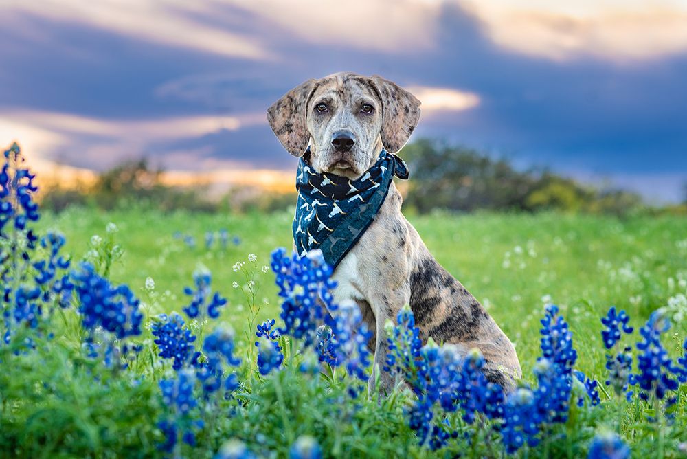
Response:
POLYGON ((331 267, 320 251, 300 258, 297 254, 289 257, 280 248, 272 253, 271 268, 283 299, 280 317, 284 328, 280 333, 303 339, 305 346, 311 346, 319 324, 330 319, 327 311, 335 310, 331 290, 336 283, 330 279, 331 267))

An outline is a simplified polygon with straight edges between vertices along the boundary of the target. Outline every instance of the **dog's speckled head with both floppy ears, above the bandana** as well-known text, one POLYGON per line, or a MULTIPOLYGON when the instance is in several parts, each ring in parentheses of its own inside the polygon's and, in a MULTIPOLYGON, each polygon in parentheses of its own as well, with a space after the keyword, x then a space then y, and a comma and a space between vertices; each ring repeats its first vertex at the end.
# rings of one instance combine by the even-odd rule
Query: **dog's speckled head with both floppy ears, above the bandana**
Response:
POLYGON ((384 148, 396 153, 420 119, 420 101, 379 76, 339 73, 308 80, 267 110, 269 125, 286 150, 311 166, 356 179, 384 148))

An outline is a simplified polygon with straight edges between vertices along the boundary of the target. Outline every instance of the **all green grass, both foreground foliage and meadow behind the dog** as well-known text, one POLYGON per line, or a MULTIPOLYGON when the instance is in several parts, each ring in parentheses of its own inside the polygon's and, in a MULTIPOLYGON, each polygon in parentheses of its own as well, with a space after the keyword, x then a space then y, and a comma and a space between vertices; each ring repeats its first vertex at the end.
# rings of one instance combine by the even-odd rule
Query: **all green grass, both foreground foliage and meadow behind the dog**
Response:
MULTIPOLYGON (((614 304, 625 309, 638 328, 651 311, 666 306, 671 297, 687 293, 687 219, 437 213, 413 216, 411 221, 439 262, 487 306, 515 342, 524 377, 530 382, 540 355, 539 319, 546 301, 559 304, 570 323, 579 355, 576 368, 603 385, 605 352, 599 318, 608 307, 614 304)), ((67 253, 79 260, 91 249, 91 236, 104 236, 110 222, 117 225, 116 243, 124 249, 124 256, 111 269, 111 280, 128 284, 150 303, 145 306, 149 315, 181 311, 188 303, 183 287, 192 282, 194 269, 204 265, 213 273, 213 288, 229 299, 221 320, 243 332, 238 333, 237 347, 245 362, 254 366, 250 359, 254 347, 247 278, 232 267, 243 261, 257 271, 256 302, 261 305, 257 320, 278 317, 273 274, 262 273, 260 268, 269 265, 269 254, 275 247, 290 247, 291 213, 70 209, 58 215, 44 213, 38 229, 41 233, 46 229, 63 232, 67 253), (239 236, 240 245, 229 243, 222 250, 215 243, 212 249, 205 249, 205 232, 223 228, 231 236, 239 236), (194 236, 196 248, 174 238, 175 232, 194 236), (249 254, 258 257, 254 266, 248 261, 249 254), (155 280, 154 298, 144 288, 148 277, 155 280), (233 287, 234 282, 238 288, 233 287)), ((675 304, 669 314, 687 316, 687 304, 675 304)), ((0 373, 4 416, 0 418, 0 451, 24 457, 154 455, 155 444, 161 441, 155 423, 165 410, 157 394, 157 381, 165 374, 169 377, 170 370, 154 358, 149 332, 144 330, 145 350, 132 364, 131 376, 126 376, 129 370, 113 374, 80 354, 78 320, 70 317, 65 320, 65 336, 41 344, 40 352, 15 358, 12 349, 0 348, 4 352, 0 352, 0 360, 12 364, 11 370, 0 373), (98 384, 92 383, 93 377, 98 384)), ((684 320, 674 323, 664 339, 674 357, 687 336, 686 327, 684 320)), ((18 343, 16 346, 21 346, 21 341, 18 343)), ((289 348, 286 351, 288 363, 291 355, 289 348)), ((238 396, 238 405, 214 401, 203 408, 205 422, 212 425, 199 434, 199 448, 184 447, 185 455, 212 457, 224 440, 236 437, 262 456, 284 457, 301 434, 315 436, 327 456, 502 455, 493 445, 482 442, 484 432, 479 431, 475 434, 479 441, 473 443, 471 451, 464 450, 464 441, 436 454, 418 447, 403 414, 403 407, 411 400, 407 394, 396 392, 379 405, 358 403, 346 399, 345 388, 339 383, 318 383, 293 369, 263 379, 251 368, 245 365, 239 371, 244 392, 238 396)), ((633 456, 657 457, 657 451, 663 451, 666 456, 679 457, 680 443, 687 442, 687 434, 679 428, 687 423, 686 389, 682 385, 679 391, 675 424, 661 431, 660 440, 654 425, 644 421, 651 413, 648 406, 635 403, 620 407, 620 433, 631 445, 633 456)), ((616 428, 618 408, 601 392, 605 401, 601 407, 572 407, 566 425, 552 429, 542 447, 521 450, 521 456, 584 455, 598 428, 616 428)))

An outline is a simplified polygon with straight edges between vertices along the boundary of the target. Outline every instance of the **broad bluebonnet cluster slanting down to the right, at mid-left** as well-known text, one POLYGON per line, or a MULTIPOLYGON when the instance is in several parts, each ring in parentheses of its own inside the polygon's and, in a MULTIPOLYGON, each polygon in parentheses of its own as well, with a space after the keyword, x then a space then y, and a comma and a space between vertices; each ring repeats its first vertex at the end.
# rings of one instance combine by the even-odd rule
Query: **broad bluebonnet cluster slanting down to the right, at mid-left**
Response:
POLYGON ((140 302, 126 285, 113 287, 90 263, 82 263, 71 277, 80 302, 78 311, 87 330, 101 326, 117 339, 141 334, 140 302))

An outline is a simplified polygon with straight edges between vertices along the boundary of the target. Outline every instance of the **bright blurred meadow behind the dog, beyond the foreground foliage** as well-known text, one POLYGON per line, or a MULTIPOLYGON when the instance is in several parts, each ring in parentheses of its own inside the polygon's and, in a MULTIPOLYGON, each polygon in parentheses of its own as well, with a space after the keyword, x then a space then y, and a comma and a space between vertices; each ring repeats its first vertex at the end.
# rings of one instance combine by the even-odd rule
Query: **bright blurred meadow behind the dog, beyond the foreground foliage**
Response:
MULTIPOLYGON (((57 216, 45 214, 41 226, 65 233, 67 252, 79 258, 89 250, 91 236, 104 235, 107 223, 115 223, 124 256, 113 266, 112 279, 139 293, 146 278, 152 277, 156 291, 170 293, 153 313, 181 312, 188 303, 183 287, 190 284, 197 265, 205 265, 213 273, 214 288, 229 299, 223 318, 242 330, 247 328, 245 276, 232 266, 237 261, 249 264, 249 254, 258 256, 258 267, 269 265, 273 249, 291 247, 291 218, 289 212, 212 215, 77 208, 57 216), (229 232, 227 249, 221 249, 217 238, 205 249, 205 233, 220 229, 229 232), (196 247, 174 238, 175 232, 194 236, 196 247), (239 245, 231 242, 234 236, 240 238, 239 245), (233 288, 233 282, 240 289, 233 288)), ((438 261, 485 304, 515 342, 525 374, 539 355, 539 318, 545 302, 558 304, 570 322, 581 346, 578 366, 590 377, 602 378, 605 355, 599 317, 609 306, 625 309, 639 326, 671 296, 687 294, 684 218, 619 220, 552 213, 433 214, 410 220, 438 261)), ((258 319, 277 318, 274 276, 258 273, 258 279, 258 301, 268 303, 258 319)), ((671 331, 677 350, 687 336, 687 316, 671 331)))

